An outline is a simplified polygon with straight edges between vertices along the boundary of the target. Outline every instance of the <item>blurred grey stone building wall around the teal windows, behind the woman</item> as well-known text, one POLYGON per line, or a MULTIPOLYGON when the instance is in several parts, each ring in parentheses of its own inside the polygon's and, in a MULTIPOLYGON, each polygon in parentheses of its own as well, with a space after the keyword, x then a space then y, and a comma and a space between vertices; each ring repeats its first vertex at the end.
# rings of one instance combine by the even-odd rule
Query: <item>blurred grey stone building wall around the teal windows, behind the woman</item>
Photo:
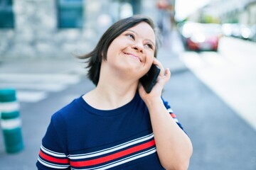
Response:
MULTIPOLYGON (((0 61, 61 59, 89 52, 119 12, 117 0, 85 0, 83 27, 60 29, 55 0, 13 1, 15 28, 0 29, 0 61)), ((142 13, 154 18, 154 0, 142 4, 142 13)))

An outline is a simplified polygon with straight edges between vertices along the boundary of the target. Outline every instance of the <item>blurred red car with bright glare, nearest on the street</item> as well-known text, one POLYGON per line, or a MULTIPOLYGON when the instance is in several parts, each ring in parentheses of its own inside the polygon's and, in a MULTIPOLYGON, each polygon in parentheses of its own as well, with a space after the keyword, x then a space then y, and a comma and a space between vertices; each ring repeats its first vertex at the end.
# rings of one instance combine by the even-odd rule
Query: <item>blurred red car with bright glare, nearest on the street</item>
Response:
POLYGON ((187 50, 218 50, 221 26, 215 23, 183 23, 180 26, 183 44, 187 50))

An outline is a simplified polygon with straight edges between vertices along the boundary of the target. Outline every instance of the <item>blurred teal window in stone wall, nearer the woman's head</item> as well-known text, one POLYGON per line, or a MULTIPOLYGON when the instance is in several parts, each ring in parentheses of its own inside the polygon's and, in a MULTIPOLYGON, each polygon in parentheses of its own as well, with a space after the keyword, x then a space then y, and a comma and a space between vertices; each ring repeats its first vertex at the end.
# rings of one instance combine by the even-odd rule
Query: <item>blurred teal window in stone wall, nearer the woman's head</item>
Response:
POLYGON ((82 0, 58 0, 58 28, 82 28, 82 0))

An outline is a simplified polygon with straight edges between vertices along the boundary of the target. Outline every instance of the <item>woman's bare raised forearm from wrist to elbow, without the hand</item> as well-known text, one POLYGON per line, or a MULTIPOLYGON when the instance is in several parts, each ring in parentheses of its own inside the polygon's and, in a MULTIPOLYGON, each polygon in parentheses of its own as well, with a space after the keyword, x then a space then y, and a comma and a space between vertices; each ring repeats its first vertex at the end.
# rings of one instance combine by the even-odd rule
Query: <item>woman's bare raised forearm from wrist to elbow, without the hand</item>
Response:
POLYGON ((191 140, 166 110, 161 98, 146 102, 156 142, 156 150, 166 169, 188 169, 191 140))

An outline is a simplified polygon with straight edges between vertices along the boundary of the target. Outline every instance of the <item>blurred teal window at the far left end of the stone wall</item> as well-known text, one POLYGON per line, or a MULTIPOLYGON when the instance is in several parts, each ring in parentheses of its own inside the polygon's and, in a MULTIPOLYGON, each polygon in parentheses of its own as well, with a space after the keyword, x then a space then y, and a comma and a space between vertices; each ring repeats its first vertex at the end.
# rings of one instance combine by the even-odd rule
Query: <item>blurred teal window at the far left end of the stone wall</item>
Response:
POLYGON ((12 0, 0 0, 0 28, 14 28, 12 0))

